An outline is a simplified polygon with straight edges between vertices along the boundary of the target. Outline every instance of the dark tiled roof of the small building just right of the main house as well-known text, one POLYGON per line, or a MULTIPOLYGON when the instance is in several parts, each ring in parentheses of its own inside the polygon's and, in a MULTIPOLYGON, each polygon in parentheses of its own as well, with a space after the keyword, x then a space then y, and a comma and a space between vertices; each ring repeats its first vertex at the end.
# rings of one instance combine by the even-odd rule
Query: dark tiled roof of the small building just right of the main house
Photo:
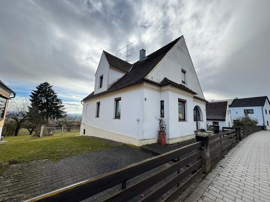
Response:
POLYGON ((226 119, 228 102, 209 102, 206 103, 206 120, 224 120, 226 119))

